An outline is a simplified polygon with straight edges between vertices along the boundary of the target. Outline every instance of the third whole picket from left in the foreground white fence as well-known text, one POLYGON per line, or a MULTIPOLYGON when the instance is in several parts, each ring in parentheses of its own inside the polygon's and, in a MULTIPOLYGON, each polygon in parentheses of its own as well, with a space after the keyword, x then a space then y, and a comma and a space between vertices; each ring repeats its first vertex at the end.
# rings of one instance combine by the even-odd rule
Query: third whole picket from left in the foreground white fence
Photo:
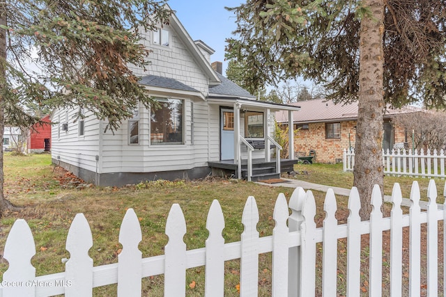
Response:
POLYGON ((119 230, 123 249, 118 255, 118 296, 141 296, 141 259, 138 245, 142 240, 137 214, 128 209, 119 230))

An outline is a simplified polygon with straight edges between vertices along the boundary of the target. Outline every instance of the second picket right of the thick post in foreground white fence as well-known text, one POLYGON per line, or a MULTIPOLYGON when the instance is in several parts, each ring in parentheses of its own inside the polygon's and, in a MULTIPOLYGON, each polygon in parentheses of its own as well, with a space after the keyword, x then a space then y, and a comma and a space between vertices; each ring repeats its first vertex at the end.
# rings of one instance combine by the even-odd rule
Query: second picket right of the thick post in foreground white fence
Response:
POLYGON ((337 210, 334 191, 329 188, 323 204, 325 219, 323 220, 323 276, 322 295, 336 296, 337 281, 337 219, 334 216, 337 210))

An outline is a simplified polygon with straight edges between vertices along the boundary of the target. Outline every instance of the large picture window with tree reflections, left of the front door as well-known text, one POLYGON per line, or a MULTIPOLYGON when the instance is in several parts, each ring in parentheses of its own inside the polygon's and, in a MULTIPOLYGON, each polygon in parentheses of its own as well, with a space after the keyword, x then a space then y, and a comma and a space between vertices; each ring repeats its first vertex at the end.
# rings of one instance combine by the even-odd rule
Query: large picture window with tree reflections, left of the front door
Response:
POLYGON ((157 99, 151 109, 151 145, 183 144, 184 104, 180 99, 157 99))

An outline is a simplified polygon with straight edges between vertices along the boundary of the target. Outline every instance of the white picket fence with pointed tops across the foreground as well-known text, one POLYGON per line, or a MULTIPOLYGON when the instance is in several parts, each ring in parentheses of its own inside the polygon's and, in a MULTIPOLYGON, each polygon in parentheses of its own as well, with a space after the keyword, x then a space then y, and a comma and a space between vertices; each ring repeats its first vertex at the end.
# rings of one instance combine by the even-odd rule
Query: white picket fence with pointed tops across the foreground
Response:
MULTIPOLYGON (((401 210, 401 190, 394 185, 392 193, 392 216, 383 218, 380 207, 383 198, 378 186, 371 197, 374 211, 369 221, 361 221, 358 215, 360 199, 356 188, 348 198, 350 216, 347 223, 338 225, 334 217, 337 202, 329 190, 324 204, 326 213, 323 227, 316 227, 314 217, 316 204, 311 191, 296 188, 289 204, 283 194, 275 203, 273 218, 275 228, 272 236, 259 237, 256 225, 259 211, 256 200, 250 196, 243 210, 245 227, 238 242, 224 243, 222 230, 224 217, 219 202, 214 200, 208 212, 206 228, 209 237, 206 247, 186 250, 183 236, 186 232, 185 218, 178 204, 171 207, 165 233, 169 242, 164 255, 142 259, 138 244, 141 241, 139 220, 132 209, 123 218, 119 234, 122 252, 118 263, 93 266, 88 252, 93 246, 89 223, 83 214, 72 221, 66 241, 70 259, 61 273, 36 277, 36 268, 31 266, 31 257, 36 246, 31 230, 25 220, 16 220, 9 232, 4 257, 9 267, 3 273, 0 296, 92 296, 92 288, 118 284, 118 296, 141 296, 141 278, 164 274, 164 296, 185 296, 186 269, 206 266, 205 296, 224 296, 224 262, 240 259, 240 296, 258 296, 259 254, 272 252, 272 296, 315 296, 316 292, 316 243, 323 242, 322 294, 337 296, 337 243, 347 238, 346 294, 360 296, 361 284, 361 235, 369 234, 369 296, 381 296, 383 284, 383 231, 391 232, 390 292, 401 296, 402 278, 402 230, 410 226, 410 296, 420 296, 420 262, 425 255, 420 248, 421 224, 427 225, 427 296, 438 296, 438 220, 445 227, 446 209, 436 204, 436 184, 428 188, 427 211, 420 209, 420 188, 413 183, 410 199, 413 206, 410 214, 401 210), (289 214, 291 209, 291 215, 289 214)), ((443 205, 444 206, 444 205, 443 205)), ((443 243, 443 246, 445 243, 443 243)), ((446 275, 446 273, 445 273, 446 275)), ((440 292, 441 295, 444 291, 440 292)))

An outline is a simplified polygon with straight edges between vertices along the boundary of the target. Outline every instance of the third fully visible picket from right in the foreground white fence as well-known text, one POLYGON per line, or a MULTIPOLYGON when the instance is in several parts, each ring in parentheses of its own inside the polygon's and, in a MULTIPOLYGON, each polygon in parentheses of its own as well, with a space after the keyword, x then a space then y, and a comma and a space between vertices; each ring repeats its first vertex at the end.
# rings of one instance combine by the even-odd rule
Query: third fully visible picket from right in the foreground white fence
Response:
POLYGON ((390 295, 401 296, 401 267, 403 250, 403 210, 401 209, 401 187, 395 183, 392 190, 392 212, 390 216, 390 295))

